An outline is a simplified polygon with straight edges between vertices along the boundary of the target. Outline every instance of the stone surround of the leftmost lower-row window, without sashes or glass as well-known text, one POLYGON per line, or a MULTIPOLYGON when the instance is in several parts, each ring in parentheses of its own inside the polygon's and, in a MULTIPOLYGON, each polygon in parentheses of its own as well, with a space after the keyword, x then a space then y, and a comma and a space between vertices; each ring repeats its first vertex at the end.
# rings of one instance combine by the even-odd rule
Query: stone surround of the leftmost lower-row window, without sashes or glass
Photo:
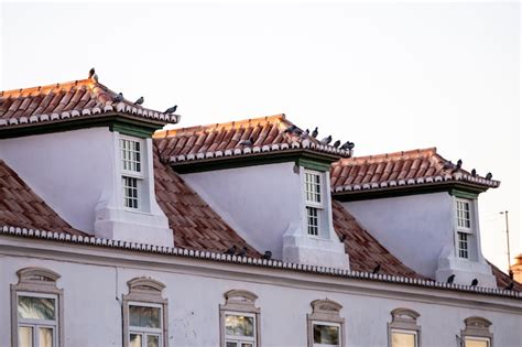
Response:
POLYGON ((63 346, 64 339, 64 290, 56 286, 61 275, 52 270, 31 267, 17 271, 19 282, 11 284, 11 343, 18 346, 18 300, 19 292, 50 294, 57 297, 56 347, 63 346))

